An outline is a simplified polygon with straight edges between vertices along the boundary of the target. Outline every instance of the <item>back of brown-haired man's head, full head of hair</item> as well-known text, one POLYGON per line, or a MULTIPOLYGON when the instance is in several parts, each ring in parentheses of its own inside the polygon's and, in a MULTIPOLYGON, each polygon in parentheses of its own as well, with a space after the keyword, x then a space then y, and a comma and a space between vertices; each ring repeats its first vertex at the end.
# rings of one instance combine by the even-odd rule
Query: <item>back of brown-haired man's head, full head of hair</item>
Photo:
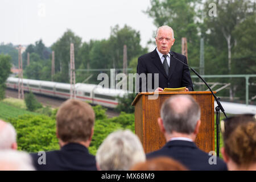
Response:
POLYGON ((79 100, 67 100, 57 111, 57 137, 63 143, 90 142, 94 120, 95 114, 89 104, 79 100))

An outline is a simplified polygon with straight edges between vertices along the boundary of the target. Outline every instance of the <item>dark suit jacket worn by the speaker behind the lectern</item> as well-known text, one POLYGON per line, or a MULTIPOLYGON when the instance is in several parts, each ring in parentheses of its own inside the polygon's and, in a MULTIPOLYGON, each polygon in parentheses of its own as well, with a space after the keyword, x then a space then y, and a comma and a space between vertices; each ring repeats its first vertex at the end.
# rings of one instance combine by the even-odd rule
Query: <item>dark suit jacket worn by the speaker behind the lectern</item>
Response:
MULTIPOLYGON (((187 64, 187 57, 179 53, 171 51, 174 56, 187 64)), ((180 88, 186 86, 189 91, 193 91, 193 84, 189 73, 189 68, 184 64, 177 61, 174 57, 170 59, 169 76, 167 77, 164 71, 163 64, 160 60, 156 49, 146 55, 142 55, 138 58, 137 73, 159 73, 159 87, 164 88, 180 88)), ((148 79, 148 78, 147 78, 148 79)), ((148 82, 147 82, 148 83, 148 82)), ((143 92, 142 85, 144 82, 139 83, 139 92, 143 92)), ((152 89, 156 89, 158 86, 154 85, 154 75, 152 75, 152 89)), ((149 92, 148 89, 146 89, 149 92)))

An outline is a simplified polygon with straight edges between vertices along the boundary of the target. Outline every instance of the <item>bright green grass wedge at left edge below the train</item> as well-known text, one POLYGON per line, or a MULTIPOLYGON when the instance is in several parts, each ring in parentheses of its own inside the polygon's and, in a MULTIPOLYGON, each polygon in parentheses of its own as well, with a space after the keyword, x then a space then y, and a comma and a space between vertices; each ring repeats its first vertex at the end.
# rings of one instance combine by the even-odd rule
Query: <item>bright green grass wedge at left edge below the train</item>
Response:
POLYGON ((38 113, 30 112, 25 109, 20 109, 15 106, 11 106, 9 104, 4 103, 3 101, 0 102, 0 118, 7 121, 9 118, 18 118, 19 115, 23 114, 34 114, 38 115, 38 113))

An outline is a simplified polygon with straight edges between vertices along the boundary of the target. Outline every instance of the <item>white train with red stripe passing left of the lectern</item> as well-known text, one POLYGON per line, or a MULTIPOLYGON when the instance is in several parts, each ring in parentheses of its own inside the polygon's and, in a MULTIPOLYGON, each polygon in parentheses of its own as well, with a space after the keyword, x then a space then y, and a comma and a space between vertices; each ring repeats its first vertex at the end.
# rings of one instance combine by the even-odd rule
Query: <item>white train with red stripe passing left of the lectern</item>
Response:
MULTIPOLYGON (((18 89, 18 78, 9 77, 6 81, 7 88, 18 89)), ((102 105, 114 108, 118 105, 117 96, 123 97, 127 92, 125 90, 105 89, 100 85, 77 83, 76 98, 82 101, 88 101, 94 105, 102 105)), ((52 81, 30 80, 23 78, 23 90, 47 96, 69 98, 70 84, 52 81)))

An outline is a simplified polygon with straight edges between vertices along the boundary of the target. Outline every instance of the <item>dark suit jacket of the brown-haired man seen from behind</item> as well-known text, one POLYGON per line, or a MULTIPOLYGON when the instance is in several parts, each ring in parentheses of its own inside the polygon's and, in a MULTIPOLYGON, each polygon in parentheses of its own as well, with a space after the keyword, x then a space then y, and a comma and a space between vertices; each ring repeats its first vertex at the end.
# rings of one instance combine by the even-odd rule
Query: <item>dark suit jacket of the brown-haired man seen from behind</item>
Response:
POLYGON ((35 168, 39 171, 97 170, 95 156, 90 155, 88 149, 78 143, 68 143, 60 150, 46 152, 46 164, 38 163, 40 155, 37 153, 30 155, 35 168))

